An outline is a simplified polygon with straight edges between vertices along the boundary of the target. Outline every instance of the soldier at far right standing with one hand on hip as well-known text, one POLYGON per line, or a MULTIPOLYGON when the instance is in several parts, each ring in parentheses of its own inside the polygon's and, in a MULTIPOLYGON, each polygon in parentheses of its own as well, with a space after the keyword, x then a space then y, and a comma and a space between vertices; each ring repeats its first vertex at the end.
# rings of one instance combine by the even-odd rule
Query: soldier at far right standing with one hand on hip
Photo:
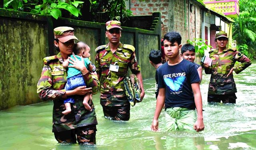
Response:
POLYGON ((250 66, 251 61, 236 48, 227 49, 228 36, 225 32, 217 33, 215 42, 218 48, 209 52, 212 64, 204 63, 205 73, 212 74, 208 102, 236 103, 236 84, 232 72, 240 73, 250 66), (240 63, 234 66, 236 61, 240 63))

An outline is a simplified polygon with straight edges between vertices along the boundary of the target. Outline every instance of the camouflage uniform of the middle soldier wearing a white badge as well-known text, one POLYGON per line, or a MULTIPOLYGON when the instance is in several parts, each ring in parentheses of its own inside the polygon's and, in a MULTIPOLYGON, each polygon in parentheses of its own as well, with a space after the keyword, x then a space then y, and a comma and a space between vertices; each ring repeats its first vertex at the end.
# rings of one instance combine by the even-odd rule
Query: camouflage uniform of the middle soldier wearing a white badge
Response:
POLYGON ((115 117, 116 114, 124 114, 118 118, 129 120, 130 103, 124 92, 124 78, 128 73, 128 67, 133 74, 140 72, 135 48, 132 45, 120 43, 114 54, 111 52, 109 44, 99 46, 95 51, 96 72, 101 76, 100 104, 103 107, 104 116, 115 117), (118 65, 118 72, 110 71, 110 64, 118 65))

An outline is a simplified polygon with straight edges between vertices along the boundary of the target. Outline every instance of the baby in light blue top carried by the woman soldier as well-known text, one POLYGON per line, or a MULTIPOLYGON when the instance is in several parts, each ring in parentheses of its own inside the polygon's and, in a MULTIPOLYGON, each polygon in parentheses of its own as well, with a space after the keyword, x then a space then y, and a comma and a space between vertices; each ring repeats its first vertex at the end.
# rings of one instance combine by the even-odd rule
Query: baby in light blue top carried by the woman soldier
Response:
MULTIPOLYGON (((91 62, 89 60, 90 47, 87 44, 85 44, 84 42, 77 42, 74 46, 73 52, 75 55, 71 55, 70 58, 65 60, 62 64, 64 68, 69 67, 68 71, 67 71, 67 74, 68 74, 67 84, 65 86, 66 90, 73 90, 74 88, 77 88, 78 86, 86 86, 86 84, 84 83, 84 78, 82 76, 82 72, 80 70, 77 70, 76 68, 72 68, 72 64, 69 63, 70 60, 75 60, 76 58, 78 60, 83 59, 86 68, 90 72, 92 72, 93 68, 95 71, 95 67, 93 67, 93 65, 91 64, 91 62), (74 58, 74 57, 76 57, 76 58, 74 58)), ((91 110, 91 107, 88 104, 89 99, 90 99, 90 93, 85 94, 83 104, 87 110, 91 110)), ((62 114, 66 115, 71 112, 70 103, 74 103, 74 98, 68 97, 66 100, 64 100, 64 105, 66 107, 66 110, 63 111, 62 114)))

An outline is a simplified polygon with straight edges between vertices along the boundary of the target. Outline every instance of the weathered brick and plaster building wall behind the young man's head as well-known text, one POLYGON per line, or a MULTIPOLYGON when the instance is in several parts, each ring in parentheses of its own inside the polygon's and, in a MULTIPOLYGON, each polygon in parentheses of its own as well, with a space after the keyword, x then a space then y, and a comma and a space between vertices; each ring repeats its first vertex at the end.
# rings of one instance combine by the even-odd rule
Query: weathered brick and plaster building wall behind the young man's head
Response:
POLYGON ((162 37, 170 31, 179 32, 182 44, 188 39, 201 38, 201 9, 193 0, 130 0, 129 9, 134 16, 161 13, 162 37), (191 12, 190 11, 190 5, 191 12))

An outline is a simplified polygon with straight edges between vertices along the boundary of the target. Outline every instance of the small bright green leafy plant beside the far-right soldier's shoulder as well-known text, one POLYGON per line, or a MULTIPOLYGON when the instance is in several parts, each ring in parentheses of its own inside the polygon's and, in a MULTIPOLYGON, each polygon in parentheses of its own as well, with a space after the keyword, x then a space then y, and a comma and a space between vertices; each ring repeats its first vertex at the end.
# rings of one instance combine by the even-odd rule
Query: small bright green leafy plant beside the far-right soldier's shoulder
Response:
POLYGON ((202 38, 194 38, 194 40, 188 40, 187 42, 195 46, 196 55, 204 56, 204 51, 208 48, 212 48, 212 46, 205 43, 206 41, 207 40, 203 40, 202 38))

